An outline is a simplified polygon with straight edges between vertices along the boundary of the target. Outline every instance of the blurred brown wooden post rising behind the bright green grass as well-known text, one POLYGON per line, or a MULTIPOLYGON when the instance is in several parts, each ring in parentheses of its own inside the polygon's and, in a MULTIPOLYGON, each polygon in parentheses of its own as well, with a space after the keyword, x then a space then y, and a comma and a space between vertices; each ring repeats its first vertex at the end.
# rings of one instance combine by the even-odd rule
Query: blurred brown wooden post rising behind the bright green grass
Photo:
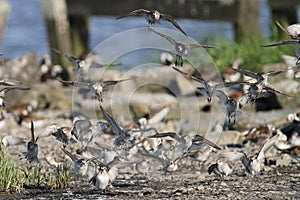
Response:
POLYGON ((240 0, 235 24, 235 37, 243 35, 261 37, 260 0, 240 0))

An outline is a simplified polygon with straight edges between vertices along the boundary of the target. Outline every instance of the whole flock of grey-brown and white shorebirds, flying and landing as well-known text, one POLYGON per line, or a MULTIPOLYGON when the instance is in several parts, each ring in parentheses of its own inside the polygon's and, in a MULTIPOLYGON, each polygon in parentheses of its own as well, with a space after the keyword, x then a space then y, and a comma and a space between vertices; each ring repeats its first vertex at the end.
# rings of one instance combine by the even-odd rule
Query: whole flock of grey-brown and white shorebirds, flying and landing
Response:
MULTIPOLYGON (((130 12, 125 16, 145 16, 149 24, 160 23, 160 20, 171 22, 180 32, 187 35, 180 27, 176 20, 170 15, 163 14, 157 10, 149 11, 138 9, 130 12)), ((286 32, 291 40, 281 41, 276 44, 265 45, 279 46, 298 44, 300 45, 300 24, 294 24, 286 29, 278 22, 277 25, 286 32)), ((291 97, 288 94, 274 88, 268 79, 276 76, 285 70, 264 72, 251 72, 232 68, 236 73, 243 74, 248 79, 244 81, 234 82, 213 82, 205 80, 200 74, 193 75, 185 72, 183 69, 183 61, 187 59, 189 51, 193 48, 215 48, 211 45, 201 44, 183 44, 176 41, 171 36, 160 33, 152 28, 149 30, 159 37, 165 38, 175 47, 176 62, 173 64, 173 69, 187 77, 190 80, 199 82, 203 86, 195 89, 195 92, 204 95, 208 102, 212 102, 217 98, 224 105, 224 112, 229 124, 236 122, 236 113, 249 103, 255 102, 256 99, 267 96, 270 92, 291 97), (179 68, 181 66, 182 68, 179 68), (246 89, 244 94, 238 98, 233 98, 226 94, 224 88, 230 88, 236 85, 243 85, 246 89)), ((72 62, 76 69, 74 73, 77 77, 84 75, 87 70, 85 59, 74 58, 68 56, 57 49, 55 52, 60 53, 72 62)), ((293 66, 288 70, 293 70, 295 76, 299 77, 300 71, 300 50, 297 51, 297 59, 293 66)), ((44 138, 54 137, 61 145, 56 151, 64 153, 72 160, 74 166, 74 176, 76 178, 87 179, 96 188, 105 190, 111 185, 122 168, 132 168, 138 173, 151 173, 156 170, 162 170, 165 173, 174 172, 179 168, 179 161, 189 158, 196 161, 205 161, 214 149, 221 151, 223 148, 219 145, 205 139, 200 135, 185 135, 174 132, 159 132, 152 125, 162 120, 168 113, 168 108, 163 107, 152 116, 141 118, 134 126, 129 128, 121 127, 121 125, 103 108, 103 92, 109 90, 110 86, 122 84, 124 81, 131 81, 138 77, 131 77, 121 80, 98 81, 94 84, 84 81, 66 81, 57 79, 64 85, 71 85, 87 89, 92 93, 99 102, 99 109, 105 121, 97 121, 92 123, 88 119, 80 116, 73 118, 72 127, 59 126, 51 124, 47 126, 41 133, 35 134, 34 122, 31 121, 31 139, 22 138, 19 136, 7 135, 2 138, 4 147, 27 144, 27 151, 24 157, 30 163, 35 165, 40 163, 38 142, 44 138), (76 150, 74 147, 78 147, 76 150)), ((28 90, 29 87, 23 86, 17 80, 3 79, 0 80, 0 85, 4 86, 0 91, 0 106, 5 109, 7 103, 5 95, 12 90, 28 90)), ((262 142, 261 148, 254 156, 248 156, 243 152, 223 152, 220 153, 216 163, 208 168, 208 172, 218 176, 228 176, 233 173, 232 162, 240 160, 246 172, 252 175, 259 174, 264 167, 265 153, 273 145, 282 151, 295 149, 300 146, 300 116, 299 113, 292 113, 288 116, 289 125, 293 124, 293 130, 278 129, 267 130, 267 136, 262 142)), ((291 129, 291 128, 290 128, 291 129)), ((247 131, 247 135, 256 134, 256 137, 261 137, 262 130, 247 131), (259 136, 257 136, 259 135, 259 136)), ((265 131, 266 132, 266 131, 265 131)), ((56 160, 52 155, 46 155, 43 160, 46 160, 49 165, 58 167, 64 165, 64 161, 56 160)))

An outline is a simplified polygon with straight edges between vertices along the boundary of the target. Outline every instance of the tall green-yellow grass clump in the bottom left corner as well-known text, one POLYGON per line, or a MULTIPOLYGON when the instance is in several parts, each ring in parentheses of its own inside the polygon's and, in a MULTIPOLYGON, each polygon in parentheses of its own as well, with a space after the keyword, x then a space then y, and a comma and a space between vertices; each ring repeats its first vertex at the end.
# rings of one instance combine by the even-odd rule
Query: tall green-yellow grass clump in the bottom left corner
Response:
POLYGON ((63 189, 70 182, 69 168, 60 166, 51 172, 41 164, 17 163, 0 143, 0 192, 24 192, 26 186, 63 189))

